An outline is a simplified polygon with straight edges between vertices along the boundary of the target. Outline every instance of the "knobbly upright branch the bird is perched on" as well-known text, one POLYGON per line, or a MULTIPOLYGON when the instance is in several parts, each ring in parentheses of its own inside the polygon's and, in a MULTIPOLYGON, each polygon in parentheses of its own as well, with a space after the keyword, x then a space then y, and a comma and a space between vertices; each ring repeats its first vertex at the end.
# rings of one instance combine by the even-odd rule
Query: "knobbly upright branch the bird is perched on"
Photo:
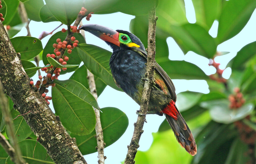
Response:
POLYGON ((144 84, 144 89, 141 99, 141 113, 144 115, 138 115, 137 122, 134 123, 134 132, 130 146, 128 146, 128 152, 124 161, 124 164, 135 163, 134 158, 137 153, 137 148, 139 147, 139 141, 141 134, 143 133, 143 125, 145 122, 147 108, 150 98, 150 93, 152 89, 152 79, 154 72, 155 63, 155 35, 156 35, 156 13, 155 7, 148 12, 148 56, 147 56, 147 66, 146 66, 146 81, 144 84))

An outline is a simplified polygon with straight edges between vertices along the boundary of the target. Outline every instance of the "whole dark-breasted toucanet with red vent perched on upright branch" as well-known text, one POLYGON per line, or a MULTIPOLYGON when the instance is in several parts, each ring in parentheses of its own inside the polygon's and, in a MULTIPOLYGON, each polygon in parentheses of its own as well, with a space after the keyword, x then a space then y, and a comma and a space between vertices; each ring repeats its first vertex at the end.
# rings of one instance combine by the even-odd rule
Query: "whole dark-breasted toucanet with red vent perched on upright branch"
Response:
MULTIPOLYGON (((79 28, 99 37, 108 44, 113 53, 109 60, 115 84, 141 104, 145 83, 147 52, 140 39, 129 31, 112 30, 98 24, 86 24, 79 28)), ((192 156, 197 153, 197 145, 186 121, 175 102, 175 87, 167 73, 155 62, 154 81, 147 114, 165 115, 179 144, 192 156)), ((138 110, 136 112, 140 114, 138 110)))

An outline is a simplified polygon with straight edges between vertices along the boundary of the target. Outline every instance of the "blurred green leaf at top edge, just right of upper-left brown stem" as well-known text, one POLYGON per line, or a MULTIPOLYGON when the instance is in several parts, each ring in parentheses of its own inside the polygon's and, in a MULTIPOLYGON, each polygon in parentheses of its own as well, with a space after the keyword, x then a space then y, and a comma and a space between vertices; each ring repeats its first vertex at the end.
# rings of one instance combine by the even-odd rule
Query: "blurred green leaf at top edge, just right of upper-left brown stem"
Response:
POLYGON ((41 21, 39 17, 39 10, 42 6, 44 6, 43 0, 29 0, 27 2, 24 2, 24 6, 30 20, 34 20, 37 22, 41 21))

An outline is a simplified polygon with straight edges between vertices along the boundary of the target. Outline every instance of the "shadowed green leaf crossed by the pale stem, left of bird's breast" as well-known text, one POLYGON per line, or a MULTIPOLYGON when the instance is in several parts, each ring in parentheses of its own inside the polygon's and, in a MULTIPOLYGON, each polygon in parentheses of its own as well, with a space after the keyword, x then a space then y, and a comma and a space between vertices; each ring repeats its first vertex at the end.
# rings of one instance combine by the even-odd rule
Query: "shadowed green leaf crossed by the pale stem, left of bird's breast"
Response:
MULTIPOLYGON (((78 68, 69 78, 71 80, 75 80, 79 83, 81 83, 86 89, 90 90, 89 83, 87 79, 87 68, 82 65, 80 68, 78 68)), ((97 95, 98 97, 103 92, 105 87, 107 86, 100 78, 94 75, 94 81, 96 85, 97 95)))

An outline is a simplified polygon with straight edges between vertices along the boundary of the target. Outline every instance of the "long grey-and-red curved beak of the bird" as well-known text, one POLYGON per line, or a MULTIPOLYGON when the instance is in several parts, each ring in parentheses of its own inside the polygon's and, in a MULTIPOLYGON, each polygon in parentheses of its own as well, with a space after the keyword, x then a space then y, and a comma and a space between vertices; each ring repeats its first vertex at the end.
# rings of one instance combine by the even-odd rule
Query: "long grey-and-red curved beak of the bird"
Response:
POLYGON ((85 24, 81 26, 79 30, 88 31, 93 35, 99 37, 103 41, 110 42, 117 46, 120 46, 119 32, 114 31, 108 27, 101 26, 98 24, 85 24))

